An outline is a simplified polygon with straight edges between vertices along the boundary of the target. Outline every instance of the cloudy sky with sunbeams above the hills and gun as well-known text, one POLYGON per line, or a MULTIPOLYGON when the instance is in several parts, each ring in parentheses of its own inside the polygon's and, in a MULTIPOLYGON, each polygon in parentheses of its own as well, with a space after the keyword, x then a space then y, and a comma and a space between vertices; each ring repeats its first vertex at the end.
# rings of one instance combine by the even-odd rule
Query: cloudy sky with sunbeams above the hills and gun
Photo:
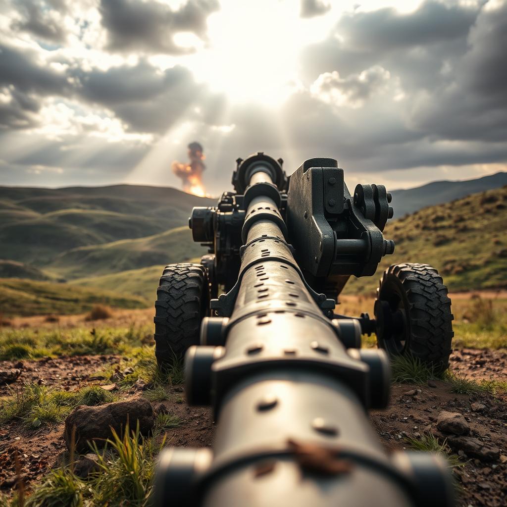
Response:
POLYGON ((507 0, 0 0, 0 185, 204 184, 238 157, 409 188, 507 170, 507 0))

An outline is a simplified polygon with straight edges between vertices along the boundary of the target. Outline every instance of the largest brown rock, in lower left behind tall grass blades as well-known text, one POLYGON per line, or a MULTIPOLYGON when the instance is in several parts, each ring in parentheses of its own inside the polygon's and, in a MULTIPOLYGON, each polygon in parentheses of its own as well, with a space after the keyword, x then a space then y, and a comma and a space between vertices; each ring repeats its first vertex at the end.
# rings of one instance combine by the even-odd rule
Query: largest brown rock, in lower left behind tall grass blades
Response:
POLYGON ((134 429, 139 422, 141 434, 147 434, 153 428, 155 416, 148 400, 135 399, 125 402, 113 402, 99 407, 80 406, 65 419, 63 433, 67 448, 70 449, 73 428, 76 427, 76 450, 89 450, 87 441, 94 441, 98 447, 105 439, 111 438, 111 428, 121 434, 127 422, 134 429))

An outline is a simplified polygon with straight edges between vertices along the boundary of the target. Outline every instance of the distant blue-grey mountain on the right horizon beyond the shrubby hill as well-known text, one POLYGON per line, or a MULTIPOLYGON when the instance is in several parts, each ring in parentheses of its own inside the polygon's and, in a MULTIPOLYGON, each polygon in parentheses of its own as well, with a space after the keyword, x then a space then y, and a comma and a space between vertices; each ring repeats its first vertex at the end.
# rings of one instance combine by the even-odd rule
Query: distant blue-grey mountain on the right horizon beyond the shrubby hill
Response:
POLYGON ((413 213, 425 206, 451 202, 469 194, 484 192, 504 185, 507 185, 507 172, 497 172, 490 176, 467 179, 463 182, 432 182, 413 189, 393 190, 391 193, 394 218, 413 213))

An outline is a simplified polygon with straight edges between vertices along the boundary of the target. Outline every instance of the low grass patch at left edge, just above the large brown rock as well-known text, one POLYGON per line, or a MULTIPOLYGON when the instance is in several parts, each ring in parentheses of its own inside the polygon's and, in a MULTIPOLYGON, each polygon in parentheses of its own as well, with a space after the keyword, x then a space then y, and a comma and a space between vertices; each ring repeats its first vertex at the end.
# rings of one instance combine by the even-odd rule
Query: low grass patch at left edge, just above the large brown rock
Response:
POLYGON ((20 390, 11 390, 0 399, 0 422, 21 419, 27 426, 60 423, 78 405, 96 406, 116 398, 99 386, 86 386, 77 391, 47 388, 35 383, 25 384, 20 390))

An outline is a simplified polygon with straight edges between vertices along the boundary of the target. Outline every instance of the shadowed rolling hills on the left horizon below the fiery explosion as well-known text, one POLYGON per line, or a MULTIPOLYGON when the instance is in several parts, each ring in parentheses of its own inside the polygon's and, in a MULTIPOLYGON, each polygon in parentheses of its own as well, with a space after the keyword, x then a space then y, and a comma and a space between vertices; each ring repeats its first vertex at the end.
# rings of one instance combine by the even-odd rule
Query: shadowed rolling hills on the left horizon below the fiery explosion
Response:
POLYGON ((0 187, 0 259, 48 266, 67 250, 186 225, 193 206, 214 203, 164 187, 0 187))

